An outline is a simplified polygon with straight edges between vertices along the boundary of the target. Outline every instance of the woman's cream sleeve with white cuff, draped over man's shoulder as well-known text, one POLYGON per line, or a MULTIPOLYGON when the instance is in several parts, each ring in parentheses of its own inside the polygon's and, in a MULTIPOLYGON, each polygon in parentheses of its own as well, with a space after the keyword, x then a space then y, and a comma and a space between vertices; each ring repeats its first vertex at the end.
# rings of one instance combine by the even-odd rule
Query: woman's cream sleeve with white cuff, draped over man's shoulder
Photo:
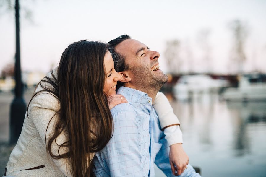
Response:
POLYGON ((173 108, 163 93, 157 93, 153 106, 158 114, 160 126, 164 131, 168 145, 183 143, 182 132, 179 127, 180 122, 173 113, 173 108))

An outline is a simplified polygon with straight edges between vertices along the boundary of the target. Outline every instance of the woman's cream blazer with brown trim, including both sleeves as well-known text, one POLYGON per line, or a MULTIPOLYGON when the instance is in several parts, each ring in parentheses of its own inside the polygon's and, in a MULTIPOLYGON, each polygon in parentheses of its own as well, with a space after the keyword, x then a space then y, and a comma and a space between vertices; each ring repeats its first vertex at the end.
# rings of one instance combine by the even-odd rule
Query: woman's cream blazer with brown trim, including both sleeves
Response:
MULTIPOLYGON (((56 71, 57 68, 53 70, 55 76, 56 71)), ((51 72, 47 76, 51 77, 51 72)), ((35 92, 39 90, 42 90, 40 85, 38 85, 35 92)), ((158 93, 156 96, 154 107, 158 113, 161 127, 179 124, 179 120, 173 114, 170 103, 162 93, 158 93)), ((45 141, 48 142, 53 132, 54 124, 58 119, 55 114, 59 109, 60 103, 51 93, 41 92, 33 98, 28 110, 29 117, 27 117, 26 113, 20 137, 9 157, 5 172, 6 176, 72 176, 67 160, 53 159, 45 146, 45 141), (53 119, 51 120, 52 117, 53 119), (46 135, 46 128, 50 120, 46 135)), ((67 139, 67 134, 62 133, 56 139, 56 142, 57 144, 62 144, 67 139)), ((51 147, 53 154, 58 155, 58 149, 59 146, 53 142, 51 147)), ((66 151, 67 149, 60 148, 60 154, 66 151)))

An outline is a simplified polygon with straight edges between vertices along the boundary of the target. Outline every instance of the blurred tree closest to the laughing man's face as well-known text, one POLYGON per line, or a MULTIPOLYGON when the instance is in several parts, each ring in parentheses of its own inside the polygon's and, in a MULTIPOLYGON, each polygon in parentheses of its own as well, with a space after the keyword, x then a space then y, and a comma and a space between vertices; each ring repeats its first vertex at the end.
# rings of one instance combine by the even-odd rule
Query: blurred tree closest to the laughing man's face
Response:
POLYGON ((183 61, 180 56, 180 41, 175 39, 166 42, 166 50, 164 52, 166 63, 171 74, 180 74, 180 67, 183 61))

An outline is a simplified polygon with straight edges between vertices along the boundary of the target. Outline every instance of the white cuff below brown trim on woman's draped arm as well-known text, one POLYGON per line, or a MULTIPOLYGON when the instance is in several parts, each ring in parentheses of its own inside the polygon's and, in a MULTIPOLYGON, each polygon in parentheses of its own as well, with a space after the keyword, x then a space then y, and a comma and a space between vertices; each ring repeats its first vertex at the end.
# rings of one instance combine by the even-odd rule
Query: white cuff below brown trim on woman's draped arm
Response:
POLYGON ((183 143, 183 134, 180 130, 179 125, 167 127, 166 129, 164 129, 163 133, 165 134, 165 139, 168 146, 177 143, 183 143))

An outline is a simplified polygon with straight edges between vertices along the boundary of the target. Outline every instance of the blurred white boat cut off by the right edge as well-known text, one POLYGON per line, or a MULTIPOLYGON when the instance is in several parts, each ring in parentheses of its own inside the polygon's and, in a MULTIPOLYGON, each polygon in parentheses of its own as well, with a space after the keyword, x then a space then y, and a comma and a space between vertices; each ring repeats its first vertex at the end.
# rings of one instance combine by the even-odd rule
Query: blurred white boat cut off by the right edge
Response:
POLYGON ((222 98, 232 101, 266 100, 266 83, 251 83, 248 77, 242 76, 239 80, 239 87, 227 88, 222 93, 222 98))

